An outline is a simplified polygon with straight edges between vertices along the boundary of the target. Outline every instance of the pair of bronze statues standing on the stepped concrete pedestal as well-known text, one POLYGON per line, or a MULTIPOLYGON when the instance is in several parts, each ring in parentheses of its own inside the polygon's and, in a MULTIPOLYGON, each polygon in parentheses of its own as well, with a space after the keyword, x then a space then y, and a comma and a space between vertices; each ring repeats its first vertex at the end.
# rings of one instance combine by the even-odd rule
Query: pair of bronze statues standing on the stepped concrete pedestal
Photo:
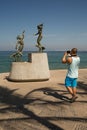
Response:
MULTIPOLYGON (((38 35, 36 47, 38 47, 39 52, 43 52, 43 50, 45 50, 45 47, 42 46, 42 44, 40 43, 43 37, 42 36, 43 24, 37 25, 37 29, 38 32, 34 34, 35 36, 38 35)), ((11 57, 14 59, 15 62, 21 61, 22 52, 24 48, 24 33, 25 31, 22 32, 22 35, 17 36, 17 43, 15 47, 16 52, 11 55, 11 57)))

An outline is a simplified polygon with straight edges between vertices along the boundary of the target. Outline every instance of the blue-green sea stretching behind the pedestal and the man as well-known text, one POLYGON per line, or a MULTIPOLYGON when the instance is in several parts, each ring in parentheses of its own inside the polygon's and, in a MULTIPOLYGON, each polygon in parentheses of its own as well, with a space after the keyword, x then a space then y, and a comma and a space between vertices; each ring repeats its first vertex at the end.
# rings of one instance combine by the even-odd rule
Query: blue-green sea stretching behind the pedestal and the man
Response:
MULTIPOLYGON (((28 54, 32 52, 24 51, 22 61, 28 61, 28 54)), ((0 51, 0 73, 10 72, 11 63, 13 62, 11 55, 13 53, 13 51, 0 51)), ((61 62, 63 51, 47 51, 45 53, 47 53, 50 70, 67 69, 67 65, 61 62)), ((79 68, 87 68, 87 51, 79 51, 78 56, 81 60, 79 68)))

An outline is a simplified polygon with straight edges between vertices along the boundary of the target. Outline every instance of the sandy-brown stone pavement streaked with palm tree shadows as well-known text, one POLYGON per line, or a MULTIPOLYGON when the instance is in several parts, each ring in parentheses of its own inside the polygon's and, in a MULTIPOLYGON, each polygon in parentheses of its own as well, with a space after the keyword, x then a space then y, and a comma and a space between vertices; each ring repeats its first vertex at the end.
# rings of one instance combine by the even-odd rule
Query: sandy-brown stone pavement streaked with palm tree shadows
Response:
POLYGON ((78 99, 70 103, 66 71, 44 82, 9 82, 0 76, 0 130, 87 130, 87 70, 80 71, 78 99))

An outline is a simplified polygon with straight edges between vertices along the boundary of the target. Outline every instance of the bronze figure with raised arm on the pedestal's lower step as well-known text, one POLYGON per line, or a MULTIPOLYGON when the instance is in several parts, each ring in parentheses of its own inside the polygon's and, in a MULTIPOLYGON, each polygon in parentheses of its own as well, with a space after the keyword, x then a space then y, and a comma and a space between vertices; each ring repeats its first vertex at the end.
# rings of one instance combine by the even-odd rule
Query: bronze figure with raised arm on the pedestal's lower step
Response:
POLYGON ((17 43, 16 43, 16 47, 15 47, 17 52, 15 52, 11 55, 11 57, 14 58, 14 60, 16 62, 21 61, 22 51, 24 48, 24 33, 25 33, 25 31, 22 32, 22 35, 17 36, 17 43))

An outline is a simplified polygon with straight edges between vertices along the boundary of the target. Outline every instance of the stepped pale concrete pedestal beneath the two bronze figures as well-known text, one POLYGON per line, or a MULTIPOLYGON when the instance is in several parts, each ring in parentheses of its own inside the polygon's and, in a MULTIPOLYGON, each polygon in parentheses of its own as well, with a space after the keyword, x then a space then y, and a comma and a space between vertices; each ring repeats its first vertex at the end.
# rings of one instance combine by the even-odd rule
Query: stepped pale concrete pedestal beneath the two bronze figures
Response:
POLYGON ((29 62, 12 62, 11 81, 42 81, 50 78, 46 53, 29 54, 29 62))

